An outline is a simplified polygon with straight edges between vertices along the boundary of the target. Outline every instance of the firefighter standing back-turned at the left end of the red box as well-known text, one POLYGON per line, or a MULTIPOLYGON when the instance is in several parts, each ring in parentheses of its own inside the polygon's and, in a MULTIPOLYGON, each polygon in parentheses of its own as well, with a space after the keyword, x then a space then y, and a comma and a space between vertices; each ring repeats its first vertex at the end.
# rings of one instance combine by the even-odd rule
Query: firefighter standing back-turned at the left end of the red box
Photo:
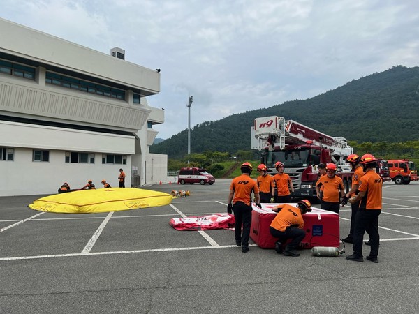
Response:
POLYGON ((231 214, 234 211, 236 245, 242 246, 242 252, 246 253, 249 251, 252 193, 255 195, 256 206, 259 208, 262 208, 262 206, 260 205, 258 185, 250 177, 251 171, 253 170, 252 165, 250 163, 243 163, 240 170, 242 171, 242 175, 235 177, 230 184, 227 213, 231 214))

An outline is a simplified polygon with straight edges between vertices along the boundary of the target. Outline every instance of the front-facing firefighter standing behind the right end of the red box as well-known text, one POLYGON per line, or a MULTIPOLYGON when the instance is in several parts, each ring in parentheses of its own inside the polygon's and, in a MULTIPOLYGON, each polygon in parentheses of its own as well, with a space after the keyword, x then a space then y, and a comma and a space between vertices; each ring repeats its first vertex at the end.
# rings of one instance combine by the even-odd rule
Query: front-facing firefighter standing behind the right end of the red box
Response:
POLYGON ((340 198, 345 195, 344 181, 336 175, 336 165, 326 165, 327 175, 320 177, 316 183, 317 197, 321 200, 321 209, 334 211, 339 214, 340 198), (323 187, 323 193, 321 188, 323 187), (323 197, 321 197, 323 194, 323 197))

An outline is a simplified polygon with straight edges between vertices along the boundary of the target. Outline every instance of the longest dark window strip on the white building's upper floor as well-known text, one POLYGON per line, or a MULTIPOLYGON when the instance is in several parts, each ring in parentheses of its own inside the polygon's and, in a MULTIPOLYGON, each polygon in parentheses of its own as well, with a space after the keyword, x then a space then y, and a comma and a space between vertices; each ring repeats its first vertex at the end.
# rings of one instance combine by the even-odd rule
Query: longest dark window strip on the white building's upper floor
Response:
POLYGON ((57 73, 47 72, 45 82, 47 84, 59 85, 68 89, 77 89, 90 94, 116 98, 119 100, 125 99, 125 91, 122 89, 113 89, 112 87, 78 80, 74 77, 60 75, 57 73))

